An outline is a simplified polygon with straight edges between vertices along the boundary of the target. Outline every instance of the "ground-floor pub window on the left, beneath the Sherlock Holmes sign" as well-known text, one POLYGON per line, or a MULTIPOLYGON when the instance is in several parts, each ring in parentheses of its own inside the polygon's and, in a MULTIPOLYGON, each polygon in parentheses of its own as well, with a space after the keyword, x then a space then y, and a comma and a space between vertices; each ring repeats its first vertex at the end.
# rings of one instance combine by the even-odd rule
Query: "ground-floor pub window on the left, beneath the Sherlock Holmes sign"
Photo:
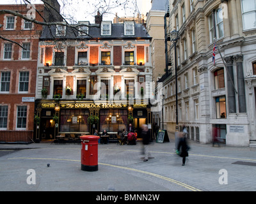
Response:
POLYGON ((60 112, 60 132, 63 133, 88 133, 87 119, 89 110, 63 109, 60 112))

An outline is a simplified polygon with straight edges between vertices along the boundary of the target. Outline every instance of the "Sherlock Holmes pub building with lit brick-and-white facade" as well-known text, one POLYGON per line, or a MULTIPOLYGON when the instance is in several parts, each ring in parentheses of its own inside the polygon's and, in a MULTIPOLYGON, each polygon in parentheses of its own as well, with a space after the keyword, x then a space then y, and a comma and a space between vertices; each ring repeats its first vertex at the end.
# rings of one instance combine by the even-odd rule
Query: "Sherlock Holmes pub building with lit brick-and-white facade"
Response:
POLYGON ((60 136, 73 140, 106 129, 111 142, 130 123, 139 132, 142 124, 151 126, 152 38, 142 24, 99 19, 95 24, 79 22, 79 31, 44 27, 38 54, 36 141, 60 136))

